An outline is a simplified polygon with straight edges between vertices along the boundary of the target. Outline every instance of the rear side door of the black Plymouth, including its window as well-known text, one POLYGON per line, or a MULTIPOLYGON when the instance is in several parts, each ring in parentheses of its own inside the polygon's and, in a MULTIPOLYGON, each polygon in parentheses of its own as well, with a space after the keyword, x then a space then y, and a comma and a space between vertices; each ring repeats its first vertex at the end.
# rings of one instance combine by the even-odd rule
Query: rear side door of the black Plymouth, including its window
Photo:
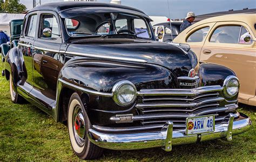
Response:
POLYGON ((24 59, 24 76, 22 80, 24 83, 19 85, 23 92, 23 96, 28 96, 29 92, 32 90, 33 86, 33 66, 32 66, 32 56, 33 56, 33 43, 35 42, 36 36, 36 26, 37 26, 37 12, 31 12, 24 18, 24 29, 19 39, 19 51, 23 54, 24 59))

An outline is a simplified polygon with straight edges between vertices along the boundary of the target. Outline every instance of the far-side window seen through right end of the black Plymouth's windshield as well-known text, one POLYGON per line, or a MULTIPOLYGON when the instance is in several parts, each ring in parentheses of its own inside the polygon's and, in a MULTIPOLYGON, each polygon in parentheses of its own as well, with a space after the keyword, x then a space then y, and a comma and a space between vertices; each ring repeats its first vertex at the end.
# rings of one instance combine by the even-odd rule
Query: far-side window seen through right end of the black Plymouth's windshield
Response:
POLYGON ((143 19, 134 19, 134 33, 140 38, 150 38, 150 32, 147 30, 147 25, 143 19))

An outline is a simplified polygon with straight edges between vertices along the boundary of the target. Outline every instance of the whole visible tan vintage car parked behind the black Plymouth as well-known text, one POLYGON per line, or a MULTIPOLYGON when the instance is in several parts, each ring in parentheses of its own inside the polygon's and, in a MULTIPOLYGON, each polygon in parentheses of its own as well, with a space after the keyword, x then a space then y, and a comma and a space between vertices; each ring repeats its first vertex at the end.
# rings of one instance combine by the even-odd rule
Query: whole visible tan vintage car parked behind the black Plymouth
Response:
POLYGON ((256 14, 204 19, 181 32, 174 43, 187 43, 201 62, 232 69, 240 80, 239 102, 256 106, 256 14))

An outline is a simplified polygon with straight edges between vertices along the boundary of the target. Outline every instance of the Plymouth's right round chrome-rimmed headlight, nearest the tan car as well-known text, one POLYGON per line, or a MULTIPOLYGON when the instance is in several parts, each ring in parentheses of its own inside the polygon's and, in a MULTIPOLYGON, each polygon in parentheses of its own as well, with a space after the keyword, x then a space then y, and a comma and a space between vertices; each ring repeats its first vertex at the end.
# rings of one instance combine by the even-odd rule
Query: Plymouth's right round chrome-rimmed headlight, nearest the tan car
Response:
POLYGON ((224 80, 223 87, 224 87, 224 94, 226 97, 228 98, 234 97, 235 95, 237 95, 240 87, 238 78, 235 76, 228 76, 224 80))

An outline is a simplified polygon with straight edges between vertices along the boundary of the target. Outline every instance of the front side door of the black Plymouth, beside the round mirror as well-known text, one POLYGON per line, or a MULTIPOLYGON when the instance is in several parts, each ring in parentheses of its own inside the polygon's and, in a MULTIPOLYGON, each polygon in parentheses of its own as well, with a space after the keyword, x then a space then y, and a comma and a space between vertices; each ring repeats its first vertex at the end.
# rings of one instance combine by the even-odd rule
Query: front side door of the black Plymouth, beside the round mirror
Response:
POLYGON ((60 37, 59 19, 54 12, 40 12, 38 32, 34 43, 33 55, 33 95, 44 106, 51 108, 56 100, 58 74, 64 64, 64 54, 59 53, 60 37), (50 34, 45 30, 51 31, 50 34))

